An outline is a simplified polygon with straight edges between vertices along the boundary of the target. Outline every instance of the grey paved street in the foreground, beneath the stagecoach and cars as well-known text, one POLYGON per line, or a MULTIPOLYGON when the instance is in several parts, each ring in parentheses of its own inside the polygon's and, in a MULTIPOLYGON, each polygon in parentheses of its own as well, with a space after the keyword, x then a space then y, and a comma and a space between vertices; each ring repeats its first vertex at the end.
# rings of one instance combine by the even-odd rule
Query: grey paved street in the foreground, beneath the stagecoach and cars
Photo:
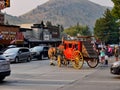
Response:
POLYGON ((11 64, 11 75, 0 83, 0 90, 120 90, 120 76, 108 66, 80 70, 72 66, 50 66, 49 60, 11 64))

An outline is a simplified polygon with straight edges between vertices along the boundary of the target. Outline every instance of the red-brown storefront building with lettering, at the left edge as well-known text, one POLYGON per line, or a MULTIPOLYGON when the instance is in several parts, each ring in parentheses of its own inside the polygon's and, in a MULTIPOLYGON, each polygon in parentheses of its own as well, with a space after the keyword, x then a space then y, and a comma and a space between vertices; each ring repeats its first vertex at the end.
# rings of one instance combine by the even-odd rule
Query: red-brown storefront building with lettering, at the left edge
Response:
POLYGON ((23 44, 24 36, 19 30, 19 26, 0 25, 0 46, 4 47, 10 44, 23 44))

